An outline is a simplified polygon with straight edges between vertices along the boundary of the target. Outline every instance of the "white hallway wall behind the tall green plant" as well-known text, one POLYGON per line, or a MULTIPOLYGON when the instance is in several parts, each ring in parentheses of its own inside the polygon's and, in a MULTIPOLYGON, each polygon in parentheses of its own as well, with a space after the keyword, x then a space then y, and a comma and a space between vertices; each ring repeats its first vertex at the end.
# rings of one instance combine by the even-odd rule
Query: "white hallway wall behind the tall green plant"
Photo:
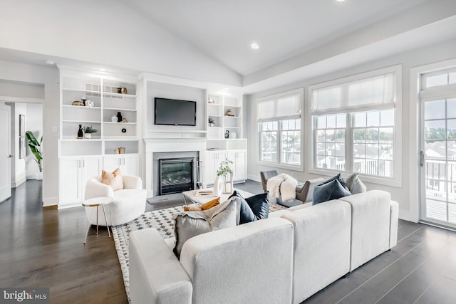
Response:
MULTIPOLYGON (((33 132, 36 139, 39 141, 43 136, 43 105, 39 103, 26 104, 26 130, 33 132)), ((44 141, 44 137, 43 137, 44 141)), ((44 156, 44 155, 43 155, 44 156)), ((27 145, 26 157, 26 176, 27 179, 35 179, 38 172, 38 164, 35 162, 35 157, 27 145)))

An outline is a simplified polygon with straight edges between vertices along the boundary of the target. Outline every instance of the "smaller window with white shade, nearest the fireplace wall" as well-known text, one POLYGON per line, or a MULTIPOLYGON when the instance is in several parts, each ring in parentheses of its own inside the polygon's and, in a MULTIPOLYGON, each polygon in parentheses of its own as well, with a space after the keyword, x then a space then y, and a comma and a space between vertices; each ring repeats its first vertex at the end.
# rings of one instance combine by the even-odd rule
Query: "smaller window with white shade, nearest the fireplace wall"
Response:
POLYGON ((261 162, 302 168, 303 95, 300 89, 257 100, 261 162))

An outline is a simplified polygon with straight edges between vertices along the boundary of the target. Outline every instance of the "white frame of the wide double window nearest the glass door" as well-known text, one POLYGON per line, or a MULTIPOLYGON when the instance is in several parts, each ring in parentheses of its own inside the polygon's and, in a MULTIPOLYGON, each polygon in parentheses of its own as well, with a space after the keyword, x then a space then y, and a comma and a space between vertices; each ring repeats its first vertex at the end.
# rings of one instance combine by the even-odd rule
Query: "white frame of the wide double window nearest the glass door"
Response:
MULTIPOLYGON (((366 78, 372 78, 378 75, 384 75, 388 73, 395 73, 395 115, 394 115, 394 150, 393 150, 393 177, 374 177, 372 175, 366 175, 360 173, 363 181, 373 183, 373 184, 383 184, 385 186, 392 187, 402 187, 402 65, 394 65, 388 68, 380 68, 378 70, 372 70, 366 73, 361 73, 358 75, 352 75, 345 78, 339 78, 336 80, 327 81, 325 83, 318 83, 316 85, 309 86, 309 108, 306 111, 306 121, 307 125, 307 138, 309 138, 309 157, 308 166, 309 172, 313 174, 319 174, 323 176, 333 176, 337 173, 337 170, 334 169, 323 169, 315 167, 315 149, 316 149, 316 139, 314 138, 314 120, 311 112, 311 105, 313 100, 314 90, 320 88, 326 88, 333 85, 340 85, 343 83, 350 83, 357 80, 363 80, 366 78)), ((383 108, 384 109, 384 108, 383 108)), ((382 107, 373 106, 371 108, 364 106, 359 109, 360 112, 366 110, 382 110, 382 107)), ((353 110, 351 112, 356 112, 353 110)), ((353 128, 350 128, 349 133, 353 132, 353 128)), ((347 164, 351 164, 353 161, 352 150, 353 150, 353 140, 352 135, 346 135, 346 159, 349 159, 347 164), (348 135, 348 136, 347 136, 348 135)), ((346 166, 346 171, 341 172, 342 174, 350 174, 351 167, 346 166)))

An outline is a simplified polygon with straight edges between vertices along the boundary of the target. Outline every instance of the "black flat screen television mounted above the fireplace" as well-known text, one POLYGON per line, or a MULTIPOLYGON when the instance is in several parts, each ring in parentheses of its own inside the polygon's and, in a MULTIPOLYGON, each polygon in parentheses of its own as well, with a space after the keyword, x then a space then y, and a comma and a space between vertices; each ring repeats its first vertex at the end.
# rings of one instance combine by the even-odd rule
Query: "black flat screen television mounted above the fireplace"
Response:
POLYGON ((155 125, 196 125, 197 102, 155 98, 155 125))

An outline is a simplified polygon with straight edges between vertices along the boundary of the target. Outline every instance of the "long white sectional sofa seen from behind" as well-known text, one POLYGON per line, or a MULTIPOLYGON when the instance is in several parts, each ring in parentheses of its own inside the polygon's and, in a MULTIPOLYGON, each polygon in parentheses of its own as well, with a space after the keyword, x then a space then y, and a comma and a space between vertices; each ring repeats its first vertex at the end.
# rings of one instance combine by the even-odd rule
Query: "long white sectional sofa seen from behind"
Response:
MULTIPOLYGON (((155 229, 130 234, 132 303, 301 303, 395 246, 398 203, 373 190, 201 234, 180 260, 155 229)), ((169 242, 169 241, 168 241, 169 242)))

